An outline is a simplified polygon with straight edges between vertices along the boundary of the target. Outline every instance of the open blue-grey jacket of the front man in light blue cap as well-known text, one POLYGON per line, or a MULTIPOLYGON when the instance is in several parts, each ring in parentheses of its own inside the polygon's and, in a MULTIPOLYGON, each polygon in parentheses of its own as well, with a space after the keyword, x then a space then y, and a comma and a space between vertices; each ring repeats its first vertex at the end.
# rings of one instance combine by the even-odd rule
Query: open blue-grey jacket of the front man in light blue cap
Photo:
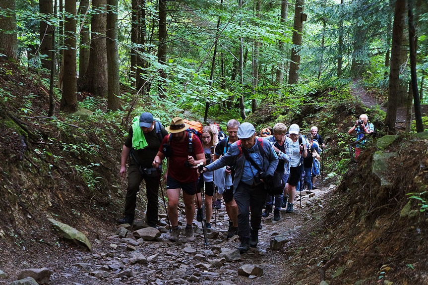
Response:
MULTIPOLYGON (((206 166, 206 169, 208 171, 214 171, 216 169, 219 169, 228 165, 229 166, 235 165, 235 177, 233 182, 234 192, 238 188, 239 182, 241 182, 241 177, 244 172, 244 165, 245 165, 245 156, 240 151, 236 143, 237 142, 234 142, 230 146, 228 152, 224 156, 222 156, 212 164, 206 166)), ((269 174, 273 175, 273 172, 278 166, 278 156, 276 155, 275 151, 272 148, 272 145, 268 140, 263 139, 262 147, 265 155, 263 157, 263 167, 261 169, 267 175, 269 174)), ((255 142, 254 153, 257 153, 257 155, 261 156, 260 151, 258 150, 257 142, 255 142)))

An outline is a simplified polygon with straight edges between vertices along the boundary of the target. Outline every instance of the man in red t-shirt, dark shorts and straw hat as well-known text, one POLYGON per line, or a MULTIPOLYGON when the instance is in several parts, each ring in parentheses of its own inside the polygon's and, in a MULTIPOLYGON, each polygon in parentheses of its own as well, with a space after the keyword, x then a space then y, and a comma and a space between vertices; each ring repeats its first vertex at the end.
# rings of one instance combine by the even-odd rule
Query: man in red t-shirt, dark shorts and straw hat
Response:
POLYGON ((171 124, 165 128, 170 134, 164 137, 152 164, 157 168, 164 158, 168 158, 167 197, 168 216, 172 227, 169 237, 171 241, 177 241, 180 235, 177 206, 181 189, 186 216, 185 239, 194 240, 192 223, 198 173, 193 167, 199 163, 205 164, 205 155, 199 138, 188 131, 188 127, 181 117, 171 120, 171 124))

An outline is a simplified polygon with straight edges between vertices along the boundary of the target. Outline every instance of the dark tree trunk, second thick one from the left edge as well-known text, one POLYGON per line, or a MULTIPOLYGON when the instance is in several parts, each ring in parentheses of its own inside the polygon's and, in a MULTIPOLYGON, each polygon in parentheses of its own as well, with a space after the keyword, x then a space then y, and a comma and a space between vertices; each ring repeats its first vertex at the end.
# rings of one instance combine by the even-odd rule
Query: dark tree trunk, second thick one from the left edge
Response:
MULTIPOLYGON (((39 0, 39 13, 42 19, 51 18, 54 12, 52 0, 39 0)), ((41 20, 39 25, 40 49, 42 67, 51 69, 54 45, 52 42, 52 27, 47 21, 41 20)))

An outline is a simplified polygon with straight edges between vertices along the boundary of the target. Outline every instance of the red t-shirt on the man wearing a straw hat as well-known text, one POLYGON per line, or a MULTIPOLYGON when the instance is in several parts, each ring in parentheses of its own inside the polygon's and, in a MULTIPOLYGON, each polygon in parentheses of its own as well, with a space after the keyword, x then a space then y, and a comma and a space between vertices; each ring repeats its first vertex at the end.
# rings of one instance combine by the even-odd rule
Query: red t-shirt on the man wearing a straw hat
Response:
MULTIPOLYGON (((168 143, 169 135, 165 136, 161 146, 159 147, 159 151, 163 153, 163 145, 168 143)), ((201 141, 196 135, 193 135, 192 143, 193 149, 192 152, 188 152, 188 132, 186 132, 186 139, 183 142, 176 142, 171 140, 171 148, 173 155, 169 158, 169 166, 168 166, 168 176, 176 179, 181 183, 190 183, 196 181, 198 178, 198 173, 196 168, 186 167, 184 163, 188 161, 187 157, 191 156, 195 160, 196 154, 203 154, 204 149, 202 148, 201 141)))

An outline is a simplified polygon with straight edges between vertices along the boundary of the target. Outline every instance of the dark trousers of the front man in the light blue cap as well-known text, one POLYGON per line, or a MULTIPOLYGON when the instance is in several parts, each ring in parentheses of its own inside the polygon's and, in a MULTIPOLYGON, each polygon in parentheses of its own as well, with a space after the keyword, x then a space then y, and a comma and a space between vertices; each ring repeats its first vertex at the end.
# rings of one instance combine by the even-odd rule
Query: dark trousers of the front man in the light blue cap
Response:
POLYGON ((241 238, 249 238, 250 229, 259 230, 261 228, 261 212, 266 200, 267 192, 264 184, 248 185, 240 182, 234 193, 235 201, 238 205, 238 235, 241 238), (251 221, 249 213, 251 211, 251 221), (251 227, 251 228, 250 228, 251 227))

